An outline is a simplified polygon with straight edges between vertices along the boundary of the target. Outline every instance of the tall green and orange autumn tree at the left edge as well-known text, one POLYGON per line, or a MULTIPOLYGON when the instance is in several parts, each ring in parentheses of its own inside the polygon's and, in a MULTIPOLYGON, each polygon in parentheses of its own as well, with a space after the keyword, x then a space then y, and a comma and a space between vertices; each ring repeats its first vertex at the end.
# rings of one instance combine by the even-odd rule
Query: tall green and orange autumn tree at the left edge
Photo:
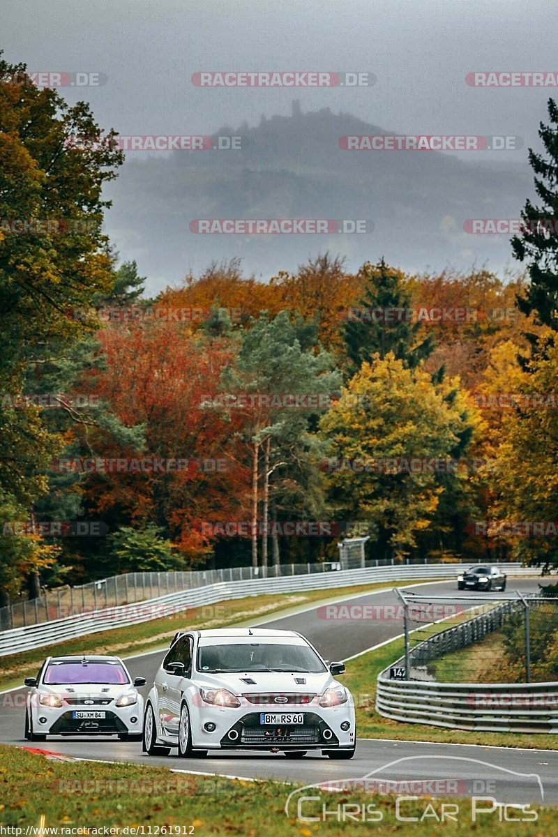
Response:
MULTIPOLYGON (((101 233, 109 202, 101 189, 123 155, 99 142, 88 105, 70 107, 54 90, 39 90, 23 64, 0 58, 0 79, 0 391, 15 397, 30 364, 59 356, 84 333, 68 311, 110 289, 101 233), (77 143, 77 136, 87 141, 77 143)), ((25 518, 47 488, 59 439, 33 406, 3 403, 0 423, 0 491, 25 518)), ((28 552, 34 592, 39 552, 40 544, 28 552)))

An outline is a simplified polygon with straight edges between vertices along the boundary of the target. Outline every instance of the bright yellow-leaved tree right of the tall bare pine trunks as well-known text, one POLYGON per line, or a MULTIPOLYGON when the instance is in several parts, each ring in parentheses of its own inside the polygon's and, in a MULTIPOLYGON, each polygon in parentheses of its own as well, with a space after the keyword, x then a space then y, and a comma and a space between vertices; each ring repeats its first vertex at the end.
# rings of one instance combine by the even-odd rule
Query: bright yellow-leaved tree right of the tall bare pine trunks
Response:
POLYGON ((467 448, 460 439, 470 441, 463 396, 447 394, 427 372, 388 352, 362 364, 321 420, 334 463, 331 501, 344 519, 360 522, 361 533, 387 556, 403 557, 417 546, 444 490, 427 466, 399 470, 393 462, 444 460, 467 448))

